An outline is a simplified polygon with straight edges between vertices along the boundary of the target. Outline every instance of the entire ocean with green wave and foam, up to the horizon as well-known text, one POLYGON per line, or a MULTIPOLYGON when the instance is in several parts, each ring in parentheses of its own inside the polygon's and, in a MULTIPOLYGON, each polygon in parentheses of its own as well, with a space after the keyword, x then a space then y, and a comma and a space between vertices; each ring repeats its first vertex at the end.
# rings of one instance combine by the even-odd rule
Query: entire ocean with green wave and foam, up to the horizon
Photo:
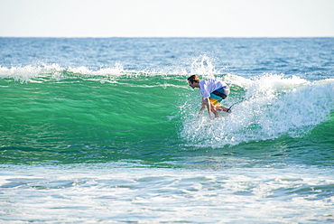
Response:
POLYGON ((0 105, 2 223, 334 222, 334 38, 0 38, 0 105))

